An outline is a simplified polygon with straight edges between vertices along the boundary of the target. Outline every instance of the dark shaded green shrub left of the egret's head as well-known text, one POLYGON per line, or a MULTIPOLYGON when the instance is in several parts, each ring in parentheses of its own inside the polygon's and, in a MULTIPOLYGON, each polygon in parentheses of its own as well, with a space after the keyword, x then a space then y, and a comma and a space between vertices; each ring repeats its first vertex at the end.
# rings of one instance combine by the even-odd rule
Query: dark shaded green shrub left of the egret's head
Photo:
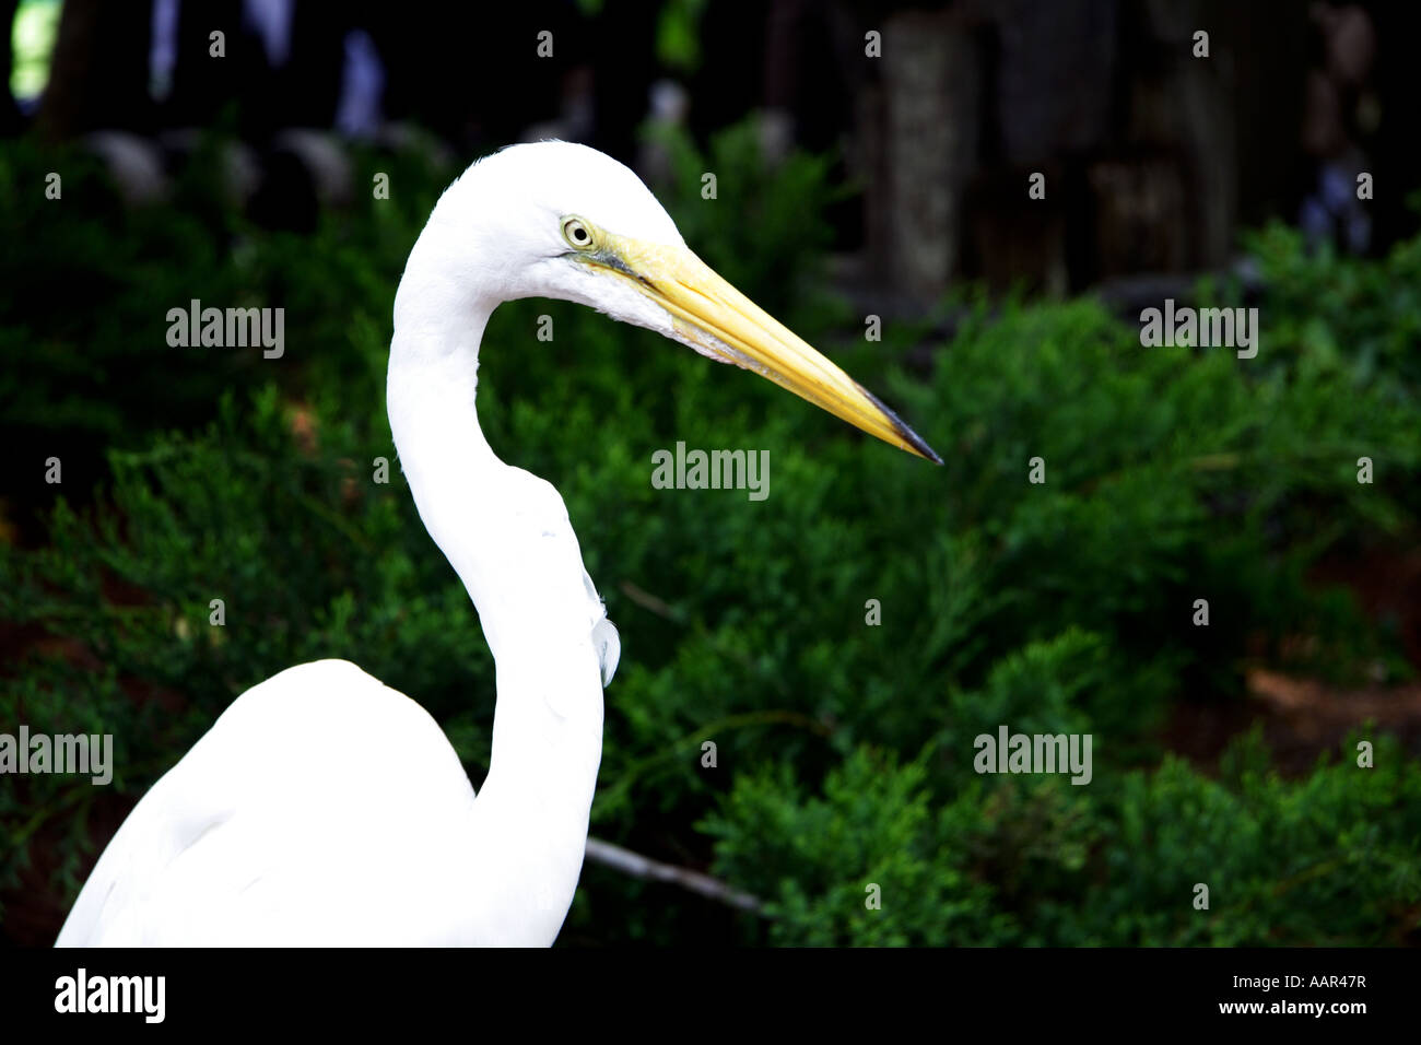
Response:
MULTIPOLYGON (((297 236, 242 220, 212 173, 222 156, 219 141, 205 142, 169 203, 129 208, 80 154, 23 142, 0 152, 0 232, 24 245, 0 254, 0 438, 44 445, 67 468, 85 462, 80 479, 107 446, 202 425, 226 388, 335 388, 378 414, 395 286, 442 175, 384 156, 391 199, 297 236), (58 200, 43 196, 51 171, 63 175, 58 200), (286 354, 171 347, 169 310, 195 299, 284 309, 286 354)), ((375 156, 357 169, 369 185, 375 156)))

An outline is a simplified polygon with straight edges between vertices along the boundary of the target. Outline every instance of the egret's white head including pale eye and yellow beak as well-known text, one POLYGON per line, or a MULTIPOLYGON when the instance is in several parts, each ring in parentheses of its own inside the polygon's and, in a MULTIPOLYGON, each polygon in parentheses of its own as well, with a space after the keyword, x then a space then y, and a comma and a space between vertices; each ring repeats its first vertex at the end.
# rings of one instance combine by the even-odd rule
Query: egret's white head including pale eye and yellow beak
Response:
POLYGON ((641 179, 597 149, 537 142, 493 154, 450 186, 436 223, 445 260, 477 259, 470 276, 485 293, 591 306, 942 463, 871 392, 696 257, 641 179))

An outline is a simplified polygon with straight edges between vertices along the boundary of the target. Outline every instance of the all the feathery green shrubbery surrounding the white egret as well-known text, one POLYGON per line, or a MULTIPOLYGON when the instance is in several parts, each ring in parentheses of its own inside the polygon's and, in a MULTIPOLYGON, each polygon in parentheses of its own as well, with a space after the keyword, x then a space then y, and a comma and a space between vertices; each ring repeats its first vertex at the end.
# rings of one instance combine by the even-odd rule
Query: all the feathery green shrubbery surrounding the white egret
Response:
MULTIPOLYGON (((809 340, 857 338, 803 279, 827 242, 824 162, 764 169, 753 142, 747 127, 705 154, 669 142, 668 208, 809 340), (708 169, 716 200, 701 198, 708 169)), ((47 162, 17 154, 0 173, 47 162)), ((200 220, 118 212, 115 229, 0 193, 9 222, 47 237, 34 272, 6 262, 0 350, 34 358, 0 378, 0 424, 105 462, 91 502, 67 482, 71 502, 40 505, 41 547, 0 545, 0 620, 33 637, 6 665, 0 722, 114 732, 114 796, 136 799, 246 687, 320 657, 415 694, 482 781, 492 661, 419 525, 382 404, 394 289, 441 183, 411 168, 392 186, 311 237, 244 227, 220 202, 185 210, 200 220), (135 235, 142 222, 162 239, 135 235), (72 279, 87 284, 67 309, 27 297, 72 279), (162 317, 189 297, 284 304, 290 358, 169 350, 162 317), (378 456, 388 485, 372 482, 378 456), (222 628, 207 623, 217 597, 222 628)), ((1307 257, 1280 230, 1258 242, 1256 367, 1142 348, 1091 300, 961 297, 931 374, 898 365, 925 328, 834 350, 941 469, 591 311, 495 314, 480 424, 558 486, 622 636, 593 829, 712 867, 773 916, 590 869, 566 940, 1410 938, 1421 769, 1398 744, 1378 744, 1373 771, 1344 748, 1302 779, 1256 739, 1216 779, 1162 752, 1172 708, 1242 700, 1259 658, 1347 682, 1408 671, 1395 634, 1309 570, 1339 547, 1415 539, 1421 247, 1353 262, 1307 257), (551 343, 534 337, 540 314, 551 343), (769 451, 770 496, 654 489, 651 455, 676 441, 769 451), (1363 455, 1376 485, 1356 482, 1363 455), (1044 485, 1027 482, 1036 456, 1044 485), (1191 623, 1198 597, 1208 628, 1191 623), (865 624, 870 599, 881 626, 865 624), (1093 782, 979 776, 973 738, 1002 724, 1093 734, 1093 782), (1208 911, 1191 906, 1196 881, 1208 911)), ((11 496, 50 496, 27 482, 11 496)), ((0 788, 0 890, 44 839, 53 886, 72 896, 105 840, 90 833, 107 800, 94 792, 58 776, 0 788)))

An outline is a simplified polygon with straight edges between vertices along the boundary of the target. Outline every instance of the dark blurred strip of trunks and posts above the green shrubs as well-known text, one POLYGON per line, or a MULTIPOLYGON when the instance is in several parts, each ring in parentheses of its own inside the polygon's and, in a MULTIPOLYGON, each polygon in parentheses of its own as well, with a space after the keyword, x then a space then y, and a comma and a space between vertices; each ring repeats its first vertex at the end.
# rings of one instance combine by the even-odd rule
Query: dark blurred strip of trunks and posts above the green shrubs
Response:
MULTIPOLYGON (((1404 3, 294 4, 276 65, 237 0, 173 7, 159 100, 152 4, 65 4, 34 131, 128 131, 171 168, 178 131, 234 112, 280 178, 283 129, 335 124, 358 30, 384 70, 384 119, 433 131, 456 156, 560 134, 635 162, 657 82, 679 85, 675 119, 702 138, 759 112, 774 148, 838 158, 857 191, 834 212, 836 246, 865 283, 891 277, 904 307, 962 277, 1077 293, 1222 267, 1242 227, 1299 220, 1329 162, 1385 186, 1364 249, 1415 227, 1421 81, 1405 48, 1421 14, 1404 3), (1192 57, 1196 27, 1209 60, 1192 57), (226 61, 207 57, 212 30, 226 61), (543 30, 551 58, 522 45, 543 30), (891 63, 863 60, 868 30, 891 63), (1036 171, 1049 220, 1023 222, 1016 186, 1036 171)), ((10 134, 27 122, 13 107, 4 119, 10 134)), ((259 189, 263 202, 296 208, 284 186, 259 189)))

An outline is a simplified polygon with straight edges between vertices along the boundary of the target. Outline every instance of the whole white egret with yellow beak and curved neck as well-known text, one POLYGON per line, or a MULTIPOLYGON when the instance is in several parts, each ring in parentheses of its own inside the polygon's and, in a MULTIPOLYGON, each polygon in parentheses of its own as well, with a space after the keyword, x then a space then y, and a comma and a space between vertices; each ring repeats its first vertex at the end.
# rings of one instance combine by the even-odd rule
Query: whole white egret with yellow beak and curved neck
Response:
POLYGON ((239 697, 144 796, 60 945, 553 943, 620 645, 563 499, 503 463, 475 412, 489 314, 534 296, 649 327, 936 461, 691 253, 617 161, 539 142, 475 164, 409 254, 387 398, 419 516, 497 667, 483 789, 408 697, 345 661, 290 668, 239 697))

